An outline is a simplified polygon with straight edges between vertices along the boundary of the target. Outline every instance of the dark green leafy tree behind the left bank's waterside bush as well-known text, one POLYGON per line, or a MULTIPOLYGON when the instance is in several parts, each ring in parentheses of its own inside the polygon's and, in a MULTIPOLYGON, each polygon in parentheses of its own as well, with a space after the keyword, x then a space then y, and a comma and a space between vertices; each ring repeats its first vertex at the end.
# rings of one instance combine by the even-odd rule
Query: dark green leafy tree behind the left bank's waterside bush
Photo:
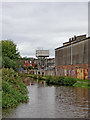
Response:
POLYGON ((19 69, 20 54, 16 49, 16 44, 11 40, 2 40, 2 67, 19 69))

